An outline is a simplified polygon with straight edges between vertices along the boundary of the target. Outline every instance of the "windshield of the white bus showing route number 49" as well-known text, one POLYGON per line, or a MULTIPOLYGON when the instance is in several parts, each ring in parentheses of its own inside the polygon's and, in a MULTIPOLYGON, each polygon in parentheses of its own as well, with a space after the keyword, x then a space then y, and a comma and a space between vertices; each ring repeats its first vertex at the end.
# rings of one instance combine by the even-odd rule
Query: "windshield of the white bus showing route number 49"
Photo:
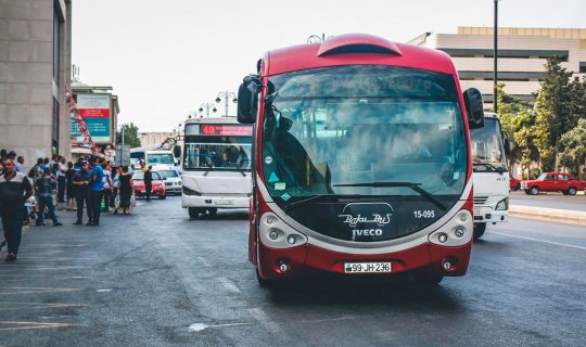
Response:
POLYGON ((186 134, 183 169, 251 170, 251 137, 186 134))

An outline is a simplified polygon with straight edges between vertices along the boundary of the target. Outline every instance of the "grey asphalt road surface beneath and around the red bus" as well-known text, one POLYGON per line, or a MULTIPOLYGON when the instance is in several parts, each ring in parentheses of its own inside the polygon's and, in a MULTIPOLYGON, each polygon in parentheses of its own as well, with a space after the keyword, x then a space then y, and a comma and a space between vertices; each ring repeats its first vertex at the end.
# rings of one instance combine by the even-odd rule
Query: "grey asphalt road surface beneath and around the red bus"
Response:
MULTIPOLYGON (((259 287, 245 211, 179 198, 102 227, 29 228, 0 262, 0 346, 584 346, 586 230, 511 218, 437 287, 259 287)), ((5 255, 5 249, 1 256, 5 255)))

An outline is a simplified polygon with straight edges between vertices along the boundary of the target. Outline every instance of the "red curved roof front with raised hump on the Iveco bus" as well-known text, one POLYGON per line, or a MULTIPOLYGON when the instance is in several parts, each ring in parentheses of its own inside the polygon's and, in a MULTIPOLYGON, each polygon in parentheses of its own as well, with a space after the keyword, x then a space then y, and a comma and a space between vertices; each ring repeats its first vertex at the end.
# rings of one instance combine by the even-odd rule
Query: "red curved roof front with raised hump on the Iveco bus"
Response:
POLYGON ((391 42, 366 34, 347 34, 322 42, 269 51, 263 75, 335 65, 392 65, 456 75, 448 54, 417 46, 391 42))

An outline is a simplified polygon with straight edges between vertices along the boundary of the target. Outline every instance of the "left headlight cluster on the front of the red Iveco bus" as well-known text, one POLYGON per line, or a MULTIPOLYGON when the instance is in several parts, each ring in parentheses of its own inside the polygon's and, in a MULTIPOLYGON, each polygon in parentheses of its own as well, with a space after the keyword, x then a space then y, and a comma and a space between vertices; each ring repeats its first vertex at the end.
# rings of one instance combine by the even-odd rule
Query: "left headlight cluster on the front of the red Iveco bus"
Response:
POLYGON ((273 213, 260 217, 258 235, 263 244, 273 248, 290 248, 307 243, 307 236, 289 227, 273 213))

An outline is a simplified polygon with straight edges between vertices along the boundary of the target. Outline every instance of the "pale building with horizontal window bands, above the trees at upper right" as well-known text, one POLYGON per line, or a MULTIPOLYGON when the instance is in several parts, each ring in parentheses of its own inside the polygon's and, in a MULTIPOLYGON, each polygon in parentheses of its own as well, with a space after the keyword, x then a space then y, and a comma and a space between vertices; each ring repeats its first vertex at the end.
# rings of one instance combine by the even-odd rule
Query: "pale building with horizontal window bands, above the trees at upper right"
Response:
MULTIPOLYGON (((435 35, 434 43, 451 56, 462 89, 477 88, 487 103, 494 88, 493 33, 492 27, 458 27, 458 34, 435 35)), ((532 101, 540 88, 544 65, 553 55, 575 76, 585 76, 586 29, 498 28, 498 81, 509 94, 532 101)))

